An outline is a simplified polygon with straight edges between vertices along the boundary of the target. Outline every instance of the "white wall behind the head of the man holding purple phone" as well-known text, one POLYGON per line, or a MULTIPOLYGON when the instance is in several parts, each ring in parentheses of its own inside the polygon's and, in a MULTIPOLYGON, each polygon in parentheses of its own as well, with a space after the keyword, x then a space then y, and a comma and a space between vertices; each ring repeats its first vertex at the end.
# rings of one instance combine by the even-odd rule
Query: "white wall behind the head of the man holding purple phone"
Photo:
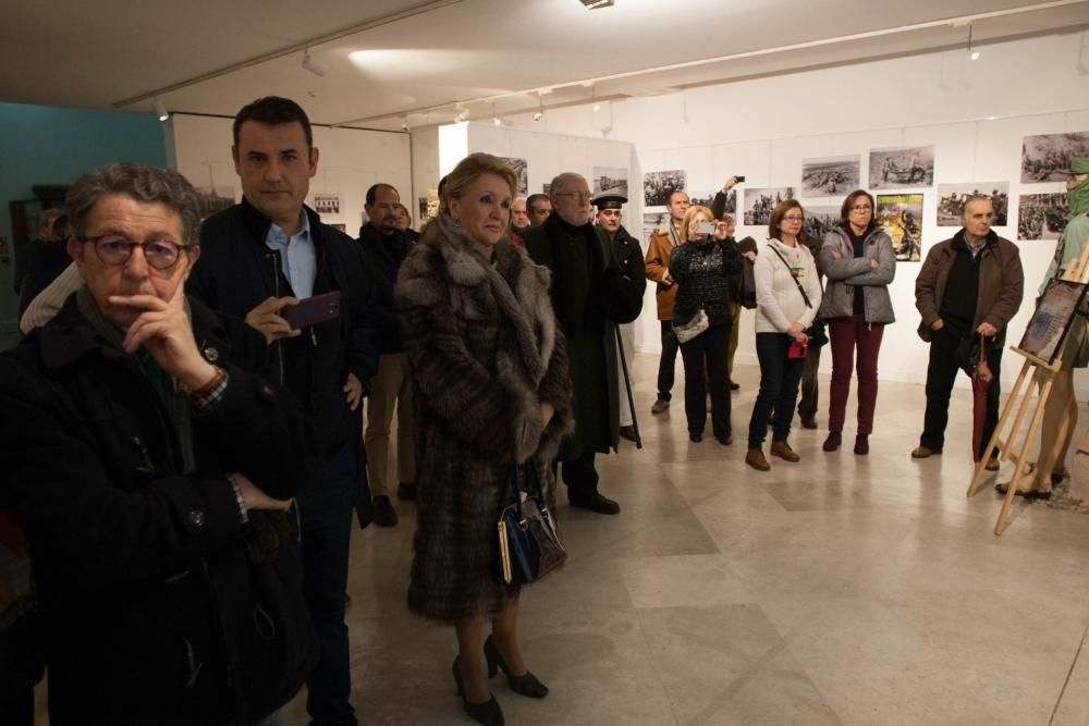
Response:
MULTIPOLYGON (((212 187, 220 196, 242 199, 242 184, 231 158, 233 119, 175 113, 167 130, 168 163, 198 188, 212 187)), ((359 234, 367 188, 386 182, 407 195, 412 189, 412 140, 402 132, 314 127, 318 172, 310 180, 307 204, 315 195, 339 197, 339 209, 321 214, 323 222, 343 224, 352 237, 359 234)), ((413 209, 405 196, 405 206, 413 209)), ((415 218, 416 213, 413 213, 415 218)))

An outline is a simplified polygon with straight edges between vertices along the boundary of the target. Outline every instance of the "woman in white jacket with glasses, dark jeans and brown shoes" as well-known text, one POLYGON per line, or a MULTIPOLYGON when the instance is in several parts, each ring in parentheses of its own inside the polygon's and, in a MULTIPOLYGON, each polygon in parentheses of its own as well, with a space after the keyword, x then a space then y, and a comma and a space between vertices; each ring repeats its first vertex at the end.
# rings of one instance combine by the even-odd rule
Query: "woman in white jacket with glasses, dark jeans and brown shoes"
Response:
POLYGON ((756 281, 756 355, 760 360, 760 393, 749 420, 745 463, 758 471, 771 468, 763 456, 768 418, 775 411, 771 454, 787 462, 800 457, 786 438, 806 362, 806 331, 820 308, 817 266, 806 247, 805 212, 794 199, 771 212, 768 244, 754 268, 756 281))

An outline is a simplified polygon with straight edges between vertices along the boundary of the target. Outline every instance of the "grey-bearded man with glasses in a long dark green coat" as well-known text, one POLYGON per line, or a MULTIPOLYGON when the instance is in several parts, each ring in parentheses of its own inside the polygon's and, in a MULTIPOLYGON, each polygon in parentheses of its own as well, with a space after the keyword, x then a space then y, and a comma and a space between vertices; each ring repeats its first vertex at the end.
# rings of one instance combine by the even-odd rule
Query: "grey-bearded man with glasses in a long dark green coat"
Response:
POLYGON ((552 271, 552 307, 567 340, 575 431, 556 460, 572 506, 620 514, 598 491, 595 457, 620 443, 615 324, 638 317, 646 280, 624 274, 609 235, 590 223, 594 195, 583 176, 560 174, 549 196, 553 213, 526 233, 526 249, 552 271))

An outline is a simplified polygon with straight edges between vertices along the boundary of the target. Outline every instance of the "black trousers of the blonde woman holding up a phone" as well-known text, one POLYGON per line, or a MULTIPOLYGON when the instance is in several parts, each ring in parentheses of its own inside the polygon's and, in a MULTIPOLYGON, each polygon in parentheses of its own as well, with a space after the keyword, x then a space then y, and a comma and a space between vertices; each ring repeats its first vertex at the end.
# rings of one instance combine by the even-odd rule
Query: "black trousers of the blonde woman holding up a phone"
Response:
POLYGON ((713 325, 681 344, 681 357, 684 360, 684 413, 688 419, 688 433, 703 433, 703 427, 707 426, 708 385, 711 386, 711 430, 719 439, 731 433, 730 329, 731 325, 713 325))

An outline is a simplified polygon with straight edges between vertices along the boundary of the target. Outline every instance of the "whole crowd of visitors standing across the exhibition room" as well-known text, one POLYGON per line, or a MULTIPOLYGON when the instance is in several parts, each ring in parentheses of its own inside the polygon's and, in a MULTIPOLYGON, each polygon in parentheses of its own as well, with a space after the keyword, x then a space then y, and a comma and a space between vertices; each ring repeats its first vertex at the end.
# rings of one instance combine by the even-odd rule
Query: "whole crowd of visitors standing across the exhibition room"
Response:
MULTIPOLYGON (((760 386, 746 464, 771 468, 769 424, 770 455, 799 460, 795 406, 816 428, 825 343, 823 450, 842 444, 855 370, 854 453, 869 453, 896 256, 866 190, 823 236, 798 201, 770 205, 762 245, 734 238, 736 177, 710 207, 672 190, 644 254, 623 196, 566 172, 521 198, 503 159, 473 153, 440 181, 438 216, 418 233, 399 190, 378 183, 353 239, 304 204, 319 152, 295 102, 240 110, 232 155, 242 201, 207 219, 176 172, 86 174, 65 217, 42 220, 71 264, 17 282, 35 294, 26 336, 0 355, 0 534, 27 543, 34 588, 0 592, 22 603, 0 620, 5 723, 34 722, 46 668, 59 725, 274 726, 304 685, 313 723, 356 723, 352 522, 395 527, 397 507, 416 510, 407 606, 452 626, 464 712, 504 723, 489 688, 499 672, 515 694, 548 696, 519 643, 522 587, 494 574, 497 514, 534 482, 554 507, 561 481, 572 507, 621 513, 597 457, 639 440, 628 364, 648 280, 662 335, 653 415, 669 413, 680 350, 689 441, 702 442, 710 411, 717 442, 733 444, 750 307, 760 386)), ((1089 160, 1070 180, 1084 217, 1089 160)), ((930 364, 915 458, 942 452, 966 345, 999 376, 1024 280, 993 212, 967 199, 963 229, 930 249, 916 282, 930 364)), ((1067 241, 1049 274, 1082 245, 1067 241)))

